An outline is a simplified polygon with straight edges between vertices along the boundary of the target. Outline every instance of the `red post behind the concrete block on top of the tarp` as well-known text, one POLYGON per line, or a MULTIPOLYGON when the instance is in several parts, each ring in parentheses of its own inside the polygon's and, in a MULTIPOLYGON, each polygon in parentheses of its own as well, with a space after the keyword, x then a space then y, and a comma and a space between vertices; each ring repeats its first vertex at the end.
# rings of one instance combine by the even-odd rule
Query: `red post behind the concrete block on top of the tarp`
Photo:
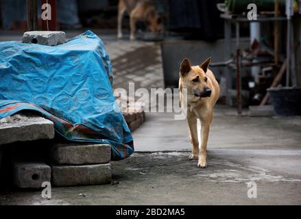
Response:
MULTIPOLYGON (((47 7, 47 5, 45 5, 47 7)), ((42 0, 42 29, 45 31, 56 31, 58 30, 58 25, 56 23, 56 0, 42 0), (43 19, 43 12, 47 8, 43 9, 43 5, 49 4, 51 7, 51 20, 43 19)))

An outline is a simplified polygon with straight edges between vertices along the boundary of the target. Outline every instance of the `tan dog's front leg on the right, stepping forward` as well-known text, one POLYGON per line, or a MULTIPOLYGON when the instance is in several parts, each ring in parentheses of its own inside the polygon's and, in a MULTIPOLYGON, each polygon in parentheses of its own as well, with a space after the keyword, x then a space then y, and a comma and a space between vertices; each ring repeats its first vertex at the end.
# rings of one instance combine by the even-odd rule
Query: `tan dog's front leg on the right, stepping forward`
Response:
POLYGON ((201 147, 200 147, 200 153, 199 153, 199 162, 197 163, 197 166, 200 168, 206 168, 207 167, 207 142, 208 142, 208 136, 209 136, 209 129, 210 129, 210 122, 209 121, 202 121, 201 125, 201 147))

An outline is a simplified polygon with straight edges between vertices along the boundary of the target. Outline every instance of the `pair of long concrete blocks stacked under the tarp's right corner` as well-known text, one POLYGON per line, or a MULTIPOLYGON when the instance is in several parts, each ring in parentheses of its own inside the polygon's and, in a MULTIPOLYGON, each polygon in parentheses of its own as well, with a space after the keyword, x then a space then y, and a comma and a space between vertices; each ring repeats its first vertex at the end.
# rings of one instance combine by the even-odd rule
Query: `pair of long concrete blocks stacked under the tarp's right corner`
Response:
POLYGON ((111 181, 108 144, 55 144, 50 155, 51 185, 96 185, 111 181))

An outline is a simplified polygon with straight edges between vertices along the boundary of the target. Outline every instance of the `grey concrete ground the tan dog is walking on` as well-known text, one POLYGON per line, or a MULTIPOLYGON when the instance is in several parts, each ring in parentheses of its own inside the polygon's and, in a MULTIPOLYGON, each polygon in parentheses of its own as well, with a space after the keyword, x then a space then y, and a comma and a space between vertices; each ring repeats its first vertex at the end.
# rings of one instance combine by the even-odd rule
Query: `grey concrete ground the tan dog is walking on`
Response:
POLYGON ((134 131, 136 153, 112 162, 115 183, 2 192, 9 205, 300 205, 301 119, 236 116, 217 105, 208 143, 208 168, 188 159, 185 120, 147 114, 134 131), (257 198, 248 185, 257 184, 257 198), (86 196, 80 196, 80 194, 86 196))

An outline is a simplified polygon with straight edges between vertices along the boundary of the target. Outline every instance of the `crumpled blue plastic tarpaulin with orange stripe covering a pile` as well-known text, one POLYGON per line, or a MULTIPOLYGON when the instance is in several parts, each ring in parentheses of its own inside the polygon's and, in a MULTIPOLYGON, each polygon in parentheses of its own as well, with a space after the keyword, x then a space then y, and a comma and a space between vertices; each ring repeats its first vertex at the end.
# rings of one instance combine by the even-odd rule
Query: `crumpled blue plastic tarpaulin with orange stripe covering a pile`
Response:
POLYGON ((0 119, 34 110, 67 140, 110 144, 112 159, 124 159, 133 139, 110 78, 108 52, 91 31, 56 47, 0 42, 0 119))

